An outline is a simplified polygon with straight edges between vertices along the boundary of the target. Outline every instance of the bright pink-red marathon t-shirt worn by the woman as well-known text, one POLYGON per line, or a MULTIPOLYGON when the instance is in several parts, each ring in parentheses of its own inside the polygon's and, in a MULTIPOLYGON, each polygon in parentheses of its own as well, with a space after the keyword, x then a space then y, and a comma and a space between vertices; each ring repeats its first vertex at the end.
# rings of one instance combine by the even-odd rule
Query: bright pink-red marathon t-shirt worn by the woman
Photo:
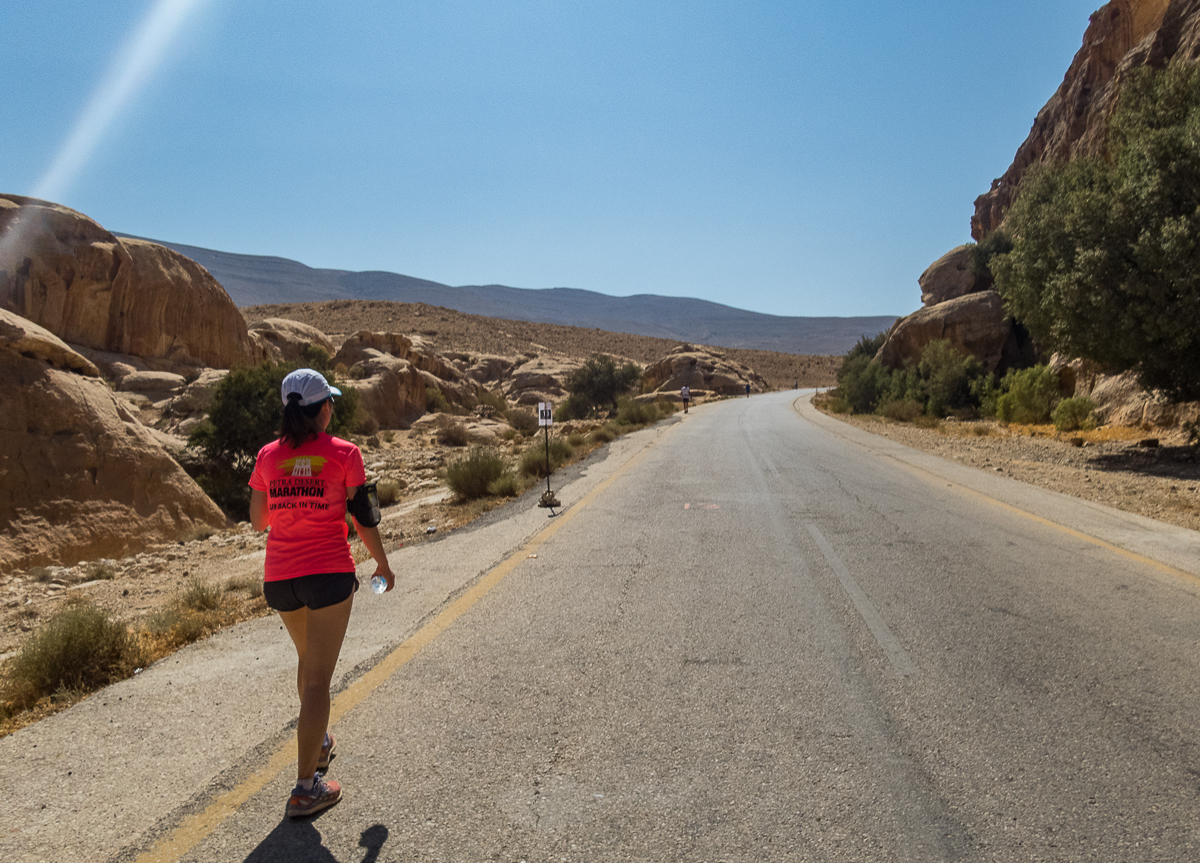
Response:
POLYGON ((266 492, 265 580, 314 573, 353 573, 347 540, 346 487, 366 483, 362 453, 349 441, 319 435, 299 449, 274 441, 258 451, 250 487, 266 492))

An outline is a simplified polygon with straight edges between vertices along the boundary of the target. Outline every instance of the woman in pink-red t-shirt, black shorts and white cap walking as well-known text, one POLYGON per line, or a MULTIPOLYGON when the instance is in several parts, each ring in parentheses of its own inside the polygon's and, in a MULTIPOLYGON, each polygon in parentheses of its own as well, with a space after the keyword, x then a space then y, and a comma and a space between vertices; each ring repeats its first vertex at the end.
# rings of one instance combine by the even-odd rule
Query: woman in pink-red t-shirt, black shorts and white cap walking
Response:
MULTIPOLYGON (((283 378, 280 438, 259 450, 250 479, 250 523, 256 531, 270 528, 263 595, 283 621, 298 658, 296 786, 287 807, 292 817, 312 815, 342 798, 341 785, 324 777, 336 745, 328 729, 329 687, 359 589, 346 504, 366 483, 366 471, 358 447, 325 433, 334 396, 340 395, 311 368, 283 378)), ((360 525, 358 517, 354 527, 390 591, 396 576, 379 529, 360 525)))

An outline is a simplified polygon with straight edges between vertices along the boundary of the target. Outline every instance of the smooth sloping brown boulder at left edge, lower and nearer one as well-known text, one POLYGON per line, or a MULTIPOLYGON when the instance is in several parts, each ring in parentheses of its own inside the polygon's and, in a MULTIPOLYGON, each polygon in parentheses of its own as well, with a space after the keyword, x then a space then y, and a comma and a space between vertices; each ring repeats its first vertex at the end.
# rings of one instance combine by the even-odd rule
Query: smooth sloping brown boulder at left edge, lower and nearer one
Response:
POLYGON ((226 526, 95 366, 8 312, 0 379, 0 569, 120 557, 226 526))

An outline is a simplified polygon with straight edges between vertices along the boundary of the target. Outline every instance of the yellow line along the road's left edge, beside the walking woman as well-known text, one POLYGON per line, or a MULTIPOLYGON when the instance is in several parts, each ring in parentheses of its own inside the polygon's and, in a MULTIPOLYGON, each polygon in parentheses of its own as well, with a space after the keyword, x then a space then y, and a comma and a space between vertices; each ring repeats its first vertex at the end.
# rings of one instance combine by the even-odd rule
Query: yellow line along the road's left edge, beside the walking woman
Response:
MULTIPOLYGON (((677 427, 678 424, 671 425, 664 435, 677 427)), ((367 696, 386 683, 388 679, 404 664, 420 653, 421 648, 432 642, 455 621, 467 613, 472 606, 487 595, 487 593, 493 587, 499 585, 505 576, 512 573, 512 570, 515 570, 522 561, 528 559, 533 551, 545 545, 551 537, 558 533, 565 523, 578 515, 583 508, 595 501, 596 497, 599 497, 622 475, 624 475, 625 472, 641 462, 654 443, 656 442, 647 444, 641 453, 636 454, 628 462, 622 465, 611 477, 602 480, 595 489, 581 497, 569 509, 559 513, 553 523, 538 532, 538 534, 526 543, 517 552, 472 585, 469 589, 443 609, 432 621, 413 634, 412 637, 384 657, 379 664, 338 693, 334 699, 332 705, 330 705, 330 727, 332 727, 338 719, 366 701, 367 696)), ((220 795, 208 805, 206 809, 204 809, 204 811, 185 817, 166 838, 157 843, 152 849, 137 857, 137 863, 173 863, 174 861, 180 859, 184 855, 204 841, 204 839, 206 839, 214 831, 217 829, 217 827, 221 826, 222 821, 238 811, 238 809, 241 808, 246 801, 275 781, 275 779, 293 763, 295 763, 294 744, 289 741, 286 745, 281 747, 274 755, 271 755, 262 769, 258 769, 246 777, 238 784, 236 787, 220 795)))

